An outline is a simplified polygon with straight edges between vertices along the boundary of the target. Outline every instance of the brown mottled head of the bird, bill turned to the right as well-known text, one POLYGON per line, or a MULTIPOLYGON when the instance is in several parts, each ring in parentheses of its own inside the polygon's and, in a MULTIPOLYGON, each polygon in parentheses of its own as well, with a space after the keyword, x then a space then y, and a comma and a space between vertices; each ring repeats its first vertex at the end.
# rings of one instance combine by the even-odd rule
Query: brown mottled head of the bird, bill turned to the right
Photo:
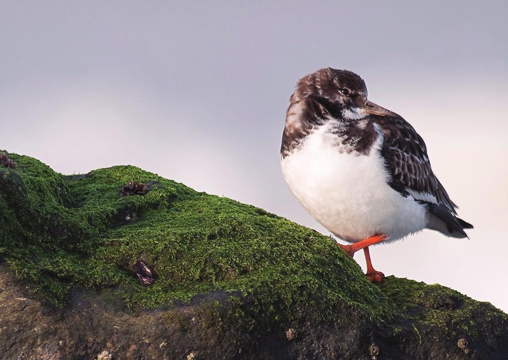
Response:
POLYGON ((369 114, 393 114, 367 100, 365 81, 347 70, 324 68, 301 78, 295 98, 311 98, 345 120, 357 120, 369 114))

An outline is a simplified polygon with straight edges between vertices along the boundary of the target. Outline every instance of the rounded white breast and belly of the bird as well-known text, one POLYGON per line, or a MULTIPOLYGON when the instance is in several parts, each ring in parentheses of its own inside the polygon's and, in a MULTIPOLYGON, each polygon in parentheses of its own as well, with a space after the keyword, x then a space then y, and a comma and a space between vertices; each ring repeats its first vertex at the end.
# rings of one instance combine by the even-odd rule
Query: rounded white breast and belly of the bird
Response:
MULTIPOLYGON (((340 152, 325 125, 281 158, 282 174, 306 211, 334 235, 358 242, 383 233, 396 240, 425 227, 425 208, 388 184, 379 132, 368 155, 340 152)), ((340 145, 339 145, 340 146, 340 145)))

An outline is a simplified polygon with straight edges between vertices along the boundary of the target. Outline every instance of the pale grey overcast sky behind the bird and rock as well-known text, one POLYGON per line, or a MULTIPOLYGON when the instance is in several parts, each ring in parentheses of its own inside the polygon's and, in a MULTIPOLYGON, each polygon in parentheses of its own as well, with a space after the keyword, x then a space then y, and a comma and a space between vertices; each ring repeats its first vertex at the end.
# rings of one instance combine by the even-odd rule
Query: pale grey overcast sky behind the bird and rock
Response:
POLYGON ((328 234, 285 185, 280 138, 300 77, 352 70, 475 226, 375 247, 374 267, 508 311, 505 2, 77 3, 0 2, 0 148, 64 174, 136 165, 328 234))

